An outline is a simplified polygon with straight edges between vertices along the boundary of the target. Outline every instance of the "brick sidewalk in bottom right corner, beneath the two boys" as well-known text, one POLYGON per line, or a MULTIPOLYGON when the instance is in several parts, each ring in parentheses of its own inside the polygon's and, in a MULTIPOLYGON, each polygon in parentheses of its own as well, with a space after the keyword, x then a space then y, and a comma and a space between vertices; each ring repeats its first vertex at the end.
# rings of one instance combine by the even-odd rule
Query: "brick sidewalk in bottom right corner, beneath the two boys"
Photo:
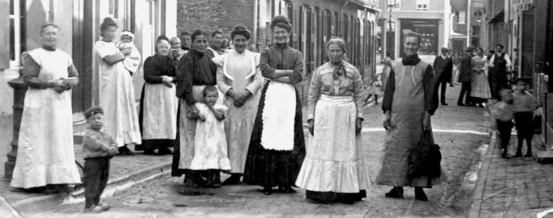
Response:
MULTIPOLYGON (((471 215, 478 217, 536 217, 553 207, 553 165, 537 163, 534 158, 501 158, 500 139, 494 134, 480 172, 480 191, 474 197, 471 215), (479 205, 479 207, 478 207, 479 205)), ((508 151, 516 153, 516 136, 508 151)), ((532 152, 544 150, 543 142, 534 135, 532 152)), ((523 146, 523 154, 526 145, 523 146)), ((547 217, 547 216, 546 216, 547 217)), ((553 217, 553 214, 550 215, 553 217)))

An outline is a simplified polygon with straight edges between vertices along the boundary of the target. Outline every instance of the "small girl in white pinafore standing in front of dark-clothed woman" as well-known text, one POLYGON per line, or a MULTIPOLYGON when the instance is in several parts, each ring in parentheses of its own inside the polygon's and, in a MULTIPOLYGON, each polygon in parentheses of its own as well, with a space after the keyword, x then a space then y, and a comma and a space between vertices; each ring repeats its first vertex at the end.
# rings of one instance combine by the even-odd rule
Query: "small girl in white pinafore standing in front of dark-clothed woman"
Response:
POLYGON ((205 103, 196 103, 196 135, 194 136, 194 159, 191 170, 202 170, 205 187, 221 187, 221 170, 230 170, 225 135, 227 107, 215 105, 218 90, 214 86, 203 89, 205 103))

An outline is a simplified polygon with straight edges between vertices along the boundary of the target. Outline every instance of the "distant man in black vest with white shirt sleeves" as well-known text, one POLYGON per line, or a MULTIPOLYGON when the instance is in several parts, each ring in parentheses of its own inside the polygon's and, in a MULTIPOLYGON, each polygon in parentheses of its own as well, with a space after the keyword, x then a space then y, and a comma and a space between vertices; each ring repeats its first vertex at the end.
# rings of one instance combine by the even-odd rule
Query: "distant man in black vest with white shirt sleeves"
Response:
POLYGON ((491 97, 497 100, 500 99, 499 92, 501 89, 509 89, 507 87, 507 67, 512 66, 509 55, 503 53, 503 45, 496 45, 496 53, 489 60, 489 67, 494 69, 489 75, 491 78, 491 97))

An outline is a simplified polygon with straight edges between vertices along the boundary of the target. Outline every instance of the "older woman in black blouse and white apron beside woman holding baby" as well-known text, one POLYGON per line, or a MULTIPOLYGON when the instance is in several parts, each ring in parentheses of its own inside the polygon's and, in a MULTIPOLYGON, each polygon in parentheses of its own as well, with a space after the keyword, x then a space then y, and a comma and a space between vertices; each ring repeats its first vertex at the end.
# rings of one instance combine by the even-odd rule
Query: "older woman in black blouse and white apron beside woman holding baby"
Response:
POLYGON ((158 154, 173 154, 167 147, 173 147, 177 136, 177 80, 165 35, 158 37, 156 55, 144 61, 144 80, 138 113, 142 145, 135 145, 135 150, 156 154, 153 150, 158 149, 158 154))

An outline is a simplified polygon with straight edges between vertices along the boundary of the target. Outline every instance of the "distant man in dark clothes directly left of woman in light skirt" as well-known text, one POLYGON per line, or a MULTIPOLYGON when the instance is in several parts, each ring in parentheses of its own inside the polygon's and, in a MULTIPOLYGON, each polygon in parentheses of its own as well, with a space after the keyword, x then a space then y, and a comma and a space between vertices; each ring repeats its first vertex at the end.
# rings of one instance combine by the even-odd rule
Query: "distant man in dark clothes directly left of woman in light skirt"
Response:
POLYGON ((457 106, 471 105, 471 80, 472 80, 472 53, 474 53, 474 47, 468 46, 465 49, 465 53, 460 57, 459 66, 459 80, 461 82, 461 93, 457 100, 457 106), (465 96, 465 104, 462 103, 462 98, 465 96))

